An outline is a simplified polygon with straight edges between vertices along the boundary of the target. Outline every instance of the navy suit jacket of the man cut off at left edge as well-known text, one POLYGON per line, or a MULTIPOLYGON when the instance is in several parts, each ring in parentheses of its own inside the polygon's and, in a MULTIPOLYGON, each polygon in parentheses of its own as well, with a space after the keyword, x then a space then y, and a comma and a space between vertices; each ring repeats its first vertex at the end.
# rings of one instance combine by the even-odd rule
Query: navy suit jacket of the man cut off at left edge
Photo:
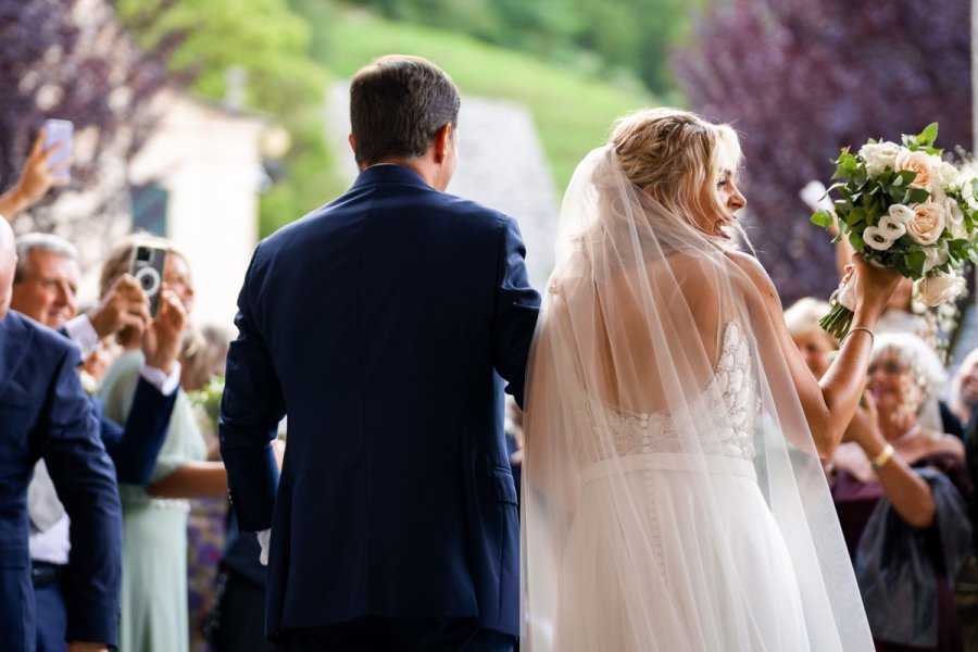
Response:
POLYGON ((34 650, 27 484, 42 457, 72 518, 70 640, 114 644, 122 577, 115 469, 82 390, 78 349, 16 312, 0 319, 0 647, 34 650))

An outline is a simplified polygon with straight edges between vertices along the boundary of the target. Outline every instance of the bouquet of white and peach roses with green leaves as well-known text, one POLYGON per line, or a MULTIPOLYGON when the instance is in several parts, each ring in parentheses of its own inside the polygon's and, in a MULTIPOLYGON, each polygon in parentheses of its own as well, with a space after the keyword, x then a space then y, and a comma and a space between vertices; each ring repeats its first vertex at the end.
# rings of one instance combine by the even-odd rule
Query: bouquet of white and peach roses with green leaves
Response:
MULTIPOLYGON (((898 271, 916 283, 920 300, 935 306, 965 289, 962 265, 978 261, 978 179, 941 160, 933 147, 938 125, 902 143, 870 140, 853 154, 842 150, 829 187, 832 210, 817 211, 812 222, 839 235, 865 259, 898 271)), ((820 322, 836 338, 852 323, 853 299, 842 286, 820 322)))

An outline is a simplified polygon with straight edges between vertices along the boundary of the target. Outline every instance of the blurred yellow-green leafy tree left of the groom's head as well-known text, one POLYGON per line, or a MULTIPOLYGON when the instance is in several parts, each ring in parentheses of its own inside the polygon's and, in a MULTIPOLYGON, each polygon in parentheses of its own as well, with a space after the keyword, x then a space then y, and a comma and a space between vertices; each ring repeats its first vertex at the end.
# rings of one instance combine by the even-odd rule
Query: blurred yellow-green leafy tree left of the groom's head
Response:
MULTIPOLYGON (((246 73, 243 106, 268 113, 291 137, 276 165, 278 183, 262 196, 261 234, 301 217, 339 190, 323 134, 327 74, 310 58, 305 18, 287 0, 115 0, 139 42, 155 48, 186 34, 170 70, 192 73, 192 89, 224 99, 228 71, 246 73)), ((329 2, 318 1, 321 11, 329 2)), ((328 14, 327 14, 328 15, 328 14)))

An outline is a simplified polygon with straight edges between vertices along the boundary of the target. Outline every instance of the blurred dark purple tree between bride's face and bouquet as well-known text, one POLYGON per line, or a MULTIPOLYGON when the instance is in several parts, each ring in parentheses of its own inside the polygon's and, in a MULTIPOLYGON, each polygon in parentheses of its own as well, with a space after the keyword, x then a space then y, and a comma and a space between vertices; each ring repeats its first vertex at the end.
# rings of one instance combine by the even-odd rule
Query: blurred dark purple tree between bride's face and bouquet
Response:
POLYGON ((939 146, 970 147, 968 11, 967 0, 729 0, 674 59, 692 105, 741 134, 749 234, 785 301, 838 285, 798 191, 828 185, 841 147, 933 121, 939 146))

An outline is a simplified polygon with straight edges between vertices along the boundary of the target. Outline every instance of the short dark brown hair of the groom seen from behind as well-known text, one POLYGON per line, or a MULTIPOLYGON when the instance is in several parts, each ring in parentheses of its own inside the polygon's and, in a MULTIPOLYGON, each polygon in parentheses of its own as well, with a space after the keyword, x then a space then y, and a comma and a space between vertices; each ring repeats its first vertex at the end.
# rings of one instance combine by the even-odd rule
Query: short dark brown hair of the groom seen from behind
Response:
POLYGON ((350 85, 350 124, 359 165, 424 155, 444 125, 454 129, 459 89, 421 57, 388 54, 361 68, 350 85))

